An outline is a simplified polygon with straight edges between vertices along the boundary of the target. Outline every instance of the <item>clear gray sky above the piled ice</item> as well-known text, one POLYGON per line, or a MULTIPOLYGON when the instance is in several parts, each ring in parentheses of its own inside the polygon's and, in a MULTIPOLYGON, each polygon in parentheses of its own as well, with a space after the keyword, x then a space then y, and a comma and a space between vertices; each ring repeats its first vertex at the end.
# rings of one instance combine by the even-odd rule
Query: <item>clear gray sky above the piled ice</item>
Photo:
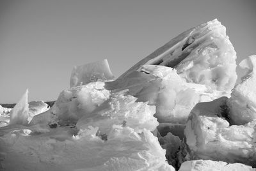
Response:
POLYGON ((56 100, 74 65, 107 58, 118 77, 156 48, 217 18, 237 52, 256 54, 255 0, 0 0, 0 103, 56 100))

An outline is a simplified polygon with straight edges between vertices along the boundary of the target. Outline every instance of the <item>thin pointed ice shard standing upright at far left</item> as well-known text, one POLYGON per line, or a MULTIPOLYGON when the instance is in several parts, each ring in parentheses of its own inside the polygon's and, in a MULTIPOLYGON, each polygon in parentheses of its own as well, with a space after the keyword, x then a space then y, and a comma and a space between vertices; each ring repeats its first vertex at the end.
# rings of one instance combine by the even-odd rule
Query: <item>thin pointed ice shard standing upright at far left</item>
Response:
POLYGON ((10 112, 10 125, 13 124, 28 124, 28 89, 23 94, 20 101, 15 105, 15 107, 10 112))

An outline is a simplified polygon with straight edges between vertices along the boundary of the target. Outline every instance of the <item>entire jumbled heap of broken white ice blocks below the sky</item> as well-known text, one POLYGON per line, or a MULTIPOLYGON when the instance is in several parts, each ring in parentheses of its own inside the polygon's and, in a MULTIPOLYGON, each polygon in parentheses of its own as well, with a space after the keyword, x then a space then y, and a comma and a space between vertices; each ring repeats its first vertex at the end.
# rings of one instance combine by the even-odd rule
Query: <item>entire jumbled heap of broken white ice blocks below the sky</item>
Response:
POLYGON ((255 170, 255 60, 234 88, 236 52, 212 20, 116 80, 106 59, 75 66, 51 109, 28 92, 13 108, 0 169, 255 170))

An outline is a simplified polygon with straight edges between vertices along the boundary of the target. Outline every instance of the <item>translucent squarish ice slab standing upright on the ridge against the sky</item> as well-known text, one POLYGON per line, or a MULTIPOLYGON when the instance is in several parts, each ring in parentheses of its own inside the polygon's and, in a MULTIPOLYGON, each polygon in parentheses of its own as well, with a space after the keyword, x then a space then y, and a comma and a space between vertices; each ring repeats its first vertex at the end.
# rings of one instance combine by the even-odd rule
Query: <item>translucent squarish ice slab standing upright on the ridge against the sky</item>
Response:
POLYGON ((70 87, 85 85, 97 80, 111 80, 114 76, 109 69, 108 60, 74 66, 71 77, 70 87))

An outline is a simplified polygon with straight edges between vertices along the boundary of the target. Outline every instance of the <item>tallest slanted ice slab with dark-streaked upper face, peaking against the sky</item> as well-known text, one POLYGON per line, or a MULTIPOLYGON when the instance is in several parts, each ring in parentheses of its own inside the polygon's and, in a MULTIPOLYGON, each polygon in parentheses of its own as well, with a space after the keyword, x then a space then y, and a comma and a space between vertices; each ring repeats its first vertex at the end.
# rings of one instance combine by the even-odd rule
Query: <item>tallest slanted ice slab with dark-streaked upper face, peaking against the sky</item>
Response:
POLYGON ((187 82, 230 92, 236 83, 236 52, 226 28, 212 20, 180 34, 142 59, 117 80, 129 77, 144 64, 177 69, 187 82))

